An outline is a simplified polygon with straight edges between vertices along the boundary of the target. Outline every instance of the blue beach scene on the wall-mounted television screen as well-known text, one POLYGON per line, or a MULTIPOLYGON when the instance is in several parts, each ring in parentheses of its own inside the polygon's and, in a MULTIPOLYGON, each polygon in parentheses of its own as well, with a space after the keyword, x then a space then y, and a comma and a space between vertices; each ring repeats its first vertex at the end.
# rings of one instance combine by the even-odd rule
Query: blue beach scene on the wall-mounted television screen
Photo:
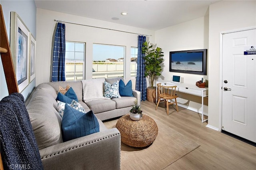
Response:
POLYGON ((174 70, 203 71, 203 53, 172 53, 171 65, 174 70))

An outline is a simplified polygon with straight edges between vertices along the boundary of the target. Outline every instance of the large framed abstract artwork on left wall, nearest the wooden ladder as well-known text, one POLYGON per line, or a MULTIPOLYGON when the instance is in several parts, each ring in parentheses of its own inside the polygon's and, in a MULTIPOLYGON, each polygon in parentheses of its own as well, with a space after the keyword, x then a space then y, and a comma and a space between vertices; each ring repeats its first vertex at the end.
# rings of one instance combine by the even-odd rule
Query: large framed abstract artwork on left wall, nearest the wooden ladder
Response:
POLYGON ((16 12, 11 12, 10 47, 19 92, 22 92, 30 82, 30 32, 16 12))

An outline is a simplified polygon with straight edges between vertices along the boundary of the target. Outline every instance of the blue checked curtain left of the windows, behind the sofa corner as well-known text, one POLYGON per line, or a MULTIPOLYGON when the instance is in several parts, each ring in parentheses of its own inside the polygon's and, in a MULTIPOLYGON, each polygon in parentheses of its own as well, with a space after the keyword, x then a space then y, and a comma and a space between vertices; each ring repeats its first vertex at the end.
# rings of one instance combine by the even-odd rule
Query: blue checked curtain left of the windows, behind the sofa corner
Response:
POLYGON ((52 82, 65 81, 65 24, 58 23, 53 47, 52 82))

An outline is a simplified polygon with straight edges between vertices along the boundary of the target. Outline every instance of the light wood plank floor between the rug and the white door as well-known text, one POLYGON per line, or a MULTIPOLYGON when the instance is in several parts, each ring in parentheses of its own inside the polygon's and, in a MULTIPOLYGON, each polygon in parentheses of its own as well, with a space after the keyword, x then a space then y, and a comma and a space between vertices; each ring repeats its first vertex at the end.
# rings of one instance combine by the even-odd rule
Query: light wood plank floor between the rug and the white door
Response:
MULTIPOLYGON (((166 114, 164 103, 155 110, 155 103, 142 101, 142 111, 153 119, 163 121, 177 132, 200 144, 164 170, 255 170, 256 147, 201 123, 201 115, 179 107, 179 112, 170 105, 166 114)), ((207 117, 206 117, 207 118, 207 117)))

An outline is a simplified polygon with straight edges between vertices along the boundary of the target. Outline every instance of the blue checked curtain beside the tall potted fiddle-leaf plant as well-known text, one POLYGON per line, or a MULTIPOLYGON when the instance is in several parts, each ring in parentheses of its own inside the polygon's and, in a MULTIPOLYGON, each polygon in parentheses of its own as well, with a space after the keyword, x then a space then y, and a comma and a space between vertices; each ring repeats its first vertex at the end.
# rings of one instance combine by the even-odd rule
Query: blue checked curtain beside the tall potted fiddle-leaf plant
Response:
POLYGON ((142 54, 143 43, 146 42, 146 36, 138 36, 138 60, 137 60, 137 75, 136 75, 136 90, 141 92, 140 101, 145 101, 147 98, 147 82, 145 73, 145 54, 142 54))

